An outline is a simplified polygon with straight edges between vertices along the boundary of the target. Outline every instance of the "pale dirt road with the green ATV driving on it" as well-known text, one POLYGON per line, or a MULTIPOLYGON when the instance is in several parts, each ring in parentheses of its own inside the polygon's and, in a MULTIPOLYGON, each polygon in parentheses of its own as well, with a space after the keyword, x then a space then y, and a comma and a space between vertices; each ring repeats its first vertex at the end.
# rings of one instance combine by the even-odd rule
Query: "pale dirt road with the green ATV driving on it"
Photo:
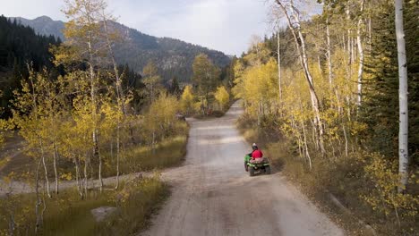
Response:
POLYGON ((163 173, 173 195, 143 235, 344 235, 280 173, 249 177, 235 120, 192 121, 182 167, 163 173))

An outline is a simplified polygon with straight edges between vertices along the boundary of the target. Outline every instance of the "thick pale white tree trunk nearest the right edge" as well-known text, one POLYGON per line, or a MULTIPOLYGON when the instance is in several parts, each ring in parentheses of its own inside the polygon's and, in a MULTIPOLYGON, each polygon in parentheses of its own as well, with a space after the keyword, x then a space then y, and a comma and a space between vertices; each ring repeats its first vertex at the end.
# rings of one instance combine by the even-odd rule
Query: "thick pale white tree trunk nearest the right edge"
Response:
POLYGON ((403 26, 403 1, 395 0, 396 10, 396 37, 398 41, 398 103, 399 103, 399 129, 398 129, 398 173, 400 185, 398 192, 406 190, 408 180, 408 100, 407 100, 407 62, 406 41, 403 26))

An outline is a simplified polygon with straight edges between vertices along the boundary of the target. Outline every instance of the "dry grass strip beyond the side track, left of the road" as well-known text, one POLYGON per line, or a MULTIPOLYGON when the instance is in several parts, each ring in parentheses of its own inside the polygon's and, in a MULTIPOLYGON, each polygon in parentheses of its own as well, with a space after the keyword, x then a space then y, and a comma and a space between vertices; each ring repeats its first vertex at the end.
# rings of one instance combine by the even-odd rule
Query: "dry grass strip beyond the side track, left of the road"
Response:
MULTIPOLYGON (((125 147, 121 153, 120 174, 137 173, 142 171, 151 171, 154 169, 164 169, 182 163, 186 155, 186 145, 188 142, 189 128, 185 124, 184 131, 174 137, 169 137, 158 142, 154 149, 150 147, 137 145, 125 147)), ((25 178, 25 173, 30 173, 33 169, 33 158, 25 155, 20 147, 19 149, 9 150, 0 161, 4 160, 3 168, 0 168, 0 176, 8 176, 13 173, 15 179, 25 178), (18 155, 10 157, 10 153, 18 153, 18 155)), ((116 154, 111 155, 110 151, 103 154, 104 166, 102 176, 104 178, 116 175, 116 154)), ((70 160, 58 160, 58 172, 72 173, 75 176, 74 164, 70 160)), ((54 179, 53 166, 47 164, 49 170, 49 178, 54 179)), ((92 170, 94 176, 97 176, 97 168, 92 170)))

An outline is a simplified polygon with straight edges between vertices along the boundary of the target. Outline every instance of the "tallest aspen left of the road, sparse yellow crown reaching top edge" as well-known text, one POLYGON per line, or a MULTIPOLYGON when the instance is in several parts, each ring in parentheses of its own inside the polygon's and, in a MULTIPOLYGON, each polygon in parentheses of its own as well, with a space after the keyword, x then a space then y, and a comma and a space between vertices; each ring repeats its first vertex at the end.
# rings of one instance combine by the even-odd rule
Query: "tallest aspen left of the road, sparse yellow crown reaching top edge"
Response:
MULTIPOLYGON (((102 158, 98 147, 98 82, 99 76, 96 71, 98 59, 104 54, 106 43, 100 37, 100 21, 102 21, 103 9, 106 3, 102 0, 65 0, 63 10, 65 16, 69 19, 65 23, 64 36, 68 46, 72 46, 70 59, 79 59, 87 63, 89 68, 90 80, 90 115, 92 116, 91 139, 94 146, 92 154, 98 158, 98 179, 100 190, 103 188, 101 166, 102 158)), ((62 56, 57 55, 58 59, 62 56)), ((65 58, 64 58, 65 59, 65 58)))

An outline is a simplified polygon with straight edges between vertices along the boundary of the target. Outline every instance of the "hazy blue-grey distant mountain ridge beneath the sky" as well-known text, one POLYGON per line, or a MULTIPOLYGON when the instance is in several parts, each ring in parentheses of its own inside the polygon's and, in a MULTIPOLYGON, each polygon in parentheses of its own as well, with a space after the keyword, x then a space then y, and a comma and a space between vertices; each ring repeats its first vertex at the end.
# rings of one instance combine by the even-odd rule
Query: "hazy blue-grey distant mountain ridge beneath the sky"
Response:
MULTIPOLYGON (((9 19, 30 26, 38 34, 53 35, 65 40, 62 32, 64 21, 54 21, 45 15, 33 20, 22 17, 9 17, 9 19)), ((231 60, 230 56, 204 46, 176 38, 154 37, 115 21, 112 24, 116 30, 124 34, 124 42, 114 46, 116 60, 119 64, 128 64, 135 72, 141 73, 142 68, 153 61, 157 64, 163 80, 168 81, 176 77, 182 82, 190 82, 192 63, 196 55, 201 53, 209 55, 213 63, 219 67, 226 66, 231 60)))

